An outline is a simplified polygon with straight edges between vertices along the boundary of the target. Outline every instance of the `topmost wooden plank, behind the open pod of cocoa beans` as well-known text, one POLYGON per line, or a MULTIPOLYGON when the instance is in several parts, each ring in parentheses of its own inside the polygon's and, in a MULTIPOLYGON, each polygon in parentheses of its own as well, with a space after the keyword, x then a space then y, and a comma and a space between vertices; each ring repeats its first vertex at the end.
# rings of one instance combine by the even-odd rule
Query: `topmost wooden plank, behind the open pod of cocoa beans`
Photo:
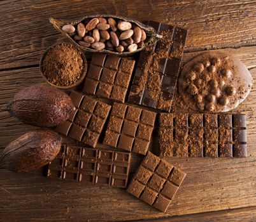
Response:
POLYGON ((190 29, 187 51, 255 45, 256 1, 1 1, 0 69, 38 64, 60 36, 50 16, 113 14, 190 29))

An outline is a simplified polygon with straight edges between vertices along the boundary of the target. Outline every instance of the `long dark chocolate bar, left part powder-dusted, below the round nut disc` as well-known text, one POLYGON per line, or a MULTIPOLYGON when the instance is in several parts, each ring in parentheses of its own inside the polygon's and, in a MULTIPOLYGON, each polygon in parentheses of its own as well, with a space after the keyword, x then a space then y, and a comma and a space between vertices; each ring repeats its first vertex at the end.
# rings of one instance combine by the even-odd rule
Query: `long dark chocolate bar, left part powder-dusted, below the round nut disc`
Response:
POLYGON ((160 114, 160 155, 246 157, 246 115, 160 114))

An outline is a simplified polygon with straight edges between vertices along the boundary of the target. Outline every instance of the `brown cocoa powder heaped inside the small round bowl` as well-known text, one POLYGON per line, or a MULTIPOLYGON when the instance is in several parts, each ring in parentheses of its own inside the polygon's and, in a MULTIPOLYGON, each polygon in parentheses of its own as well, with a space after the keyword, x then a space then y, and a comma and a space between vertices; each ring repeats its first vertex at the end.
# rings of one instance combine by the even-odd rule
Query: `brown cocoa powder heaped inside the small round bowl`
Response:
POLYGON ((42 61, 43 75, 56 86, 70 86, 80 79, 84 70, 82 53, 71 44, 50 48, 42 61))

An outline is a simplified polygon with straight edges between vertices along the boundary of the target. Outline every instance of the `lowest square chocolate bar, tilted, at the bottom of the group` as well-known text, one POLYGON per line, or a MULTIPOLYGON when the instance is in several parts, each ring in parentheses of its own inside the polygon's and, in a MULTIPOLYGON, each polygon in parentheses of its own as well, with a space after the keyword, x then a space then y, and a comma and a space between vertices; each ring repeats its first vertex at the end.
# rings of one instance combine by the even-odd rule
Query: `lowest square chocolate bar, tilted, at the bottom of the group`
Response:
POLYGON ((148 152, 127 192, 166 212, 186 173, 148 152))

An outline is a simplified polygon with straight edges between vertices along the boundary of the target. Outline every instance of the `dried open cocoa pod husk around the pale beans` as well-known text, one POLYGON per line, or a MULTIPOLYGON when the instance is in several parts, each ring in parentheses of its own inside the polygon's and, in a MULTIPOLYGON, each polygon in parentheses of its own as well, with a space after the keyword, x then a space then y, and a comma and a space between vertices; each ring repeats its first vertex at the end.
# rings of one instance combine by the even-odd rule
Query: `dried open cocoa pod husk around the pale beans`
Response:
POLYGON ((57 20, 55 18, 50 18, 50 23, 52 23, 53 27, 55 29, 57 29, 62 35, 64 35, 65 37, 68 37, 68 39, 73 42, 73 44, 75 44, 78 48, 83 49, 84 51, 90 51, 90 52, 103 52, 103 53, 107 53, 107 54, 112 54, 112 55, 119 55, 119 56, 128 56, 131 55, 133 53, 137 53, 138 51, 143 50, 144 48, 146 48, 147 46, 150 46, 152 44, 154 44, 156 41, 158 41, 160 39, 161 36, 159 36, 157 34, 157 32, 155 31, 155 29, 153 29, 153 27, 148 26, 148 25, 144 25, 141 22, 138 22, 136 20, 132 20, 129 18, 125 18, 123 16, 116 16, 116 15, 89 15, 89 16, 84 16, 83 18, 80 18, 79 20, 76 21, 66 21, 66 20, 57 20), (79 44, 77 44, 77 42, 75 42, 72 38, 72 36, 69 36, 69 34, 67 34, 66 32, 64 32, 61 28, 63 25, 74 25, 76 27, 76 25, 80 22, 85 22, 85 21, 89 21, 92 18, 99 18, 99 17, 103 17, 106 18, 108 20, 108 18, 114 18, 115 20, 122 20, 122 21, 126 21, 126 22, 131 22, 132 25, 137 25, 139 28, 141 28, 142 30, 145 31, 146 33, 146 39, 144 41, 144 45, 142 48, 138 48, 135 51, 125 51, 125 52, 117 52, 117 51, 110 51, 108 49, 101 49, 101 50, 97 50, 97 49, 92 49, 92 48, 87 48, 84 46, 81 46, 79 44))

